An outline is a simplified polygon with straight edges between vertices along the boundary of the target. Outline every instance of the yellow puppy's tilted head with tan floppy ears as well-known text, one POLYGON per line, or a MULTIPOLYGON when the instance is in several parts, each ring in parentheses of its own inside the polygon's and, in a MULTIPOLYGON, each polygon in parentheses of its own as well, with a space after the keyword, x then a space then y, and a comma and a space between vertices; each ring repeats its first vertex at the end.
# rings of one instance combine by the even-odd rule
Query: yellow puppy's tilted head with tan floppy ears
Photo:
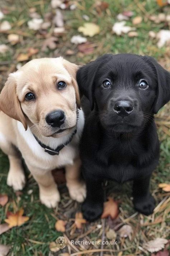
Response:
POLYGON ((75 129, 80 108, 77 66, 63 58, 34 59, 8 77, 0 109, 33 126, 43 136, 60 137, 75 129))

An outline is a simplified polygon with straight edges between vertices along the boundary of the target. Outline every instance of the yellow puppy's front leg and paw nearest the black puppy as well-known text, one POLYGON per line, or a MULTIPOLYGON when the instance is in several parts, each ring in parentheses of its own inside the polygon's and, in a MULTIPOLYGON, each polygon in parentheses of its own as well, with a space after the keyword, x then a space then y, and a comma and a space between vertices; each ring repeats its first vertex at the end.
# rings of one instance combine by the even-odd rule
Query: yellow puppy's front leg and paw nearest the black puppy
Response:
POLYGON ((69 189, 70 197, 77 202, 83 202, 86 197, 86 186, 80 180, 80 159, 74 160, 73 165, 67 165, 66 169, 66 182, 69 189))

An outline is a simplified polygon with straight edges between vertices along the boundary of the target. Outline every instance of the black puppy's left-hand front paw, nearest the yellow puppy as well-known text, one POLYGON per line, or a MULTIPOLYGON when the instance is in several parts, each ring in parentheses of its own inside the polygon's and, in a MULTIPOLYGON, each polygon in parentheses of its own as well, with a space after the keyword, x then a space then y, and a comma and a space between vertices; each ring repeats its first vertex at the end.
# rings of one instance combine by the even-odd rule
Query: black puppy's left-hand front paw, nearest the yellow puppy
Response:
POLYGON ((95 221, 99 219, 103 213, 103 202, 91 203, 85 200, 84 203, 82 203, 81 210, 84 219, 88 220, 89 222, 95 221))

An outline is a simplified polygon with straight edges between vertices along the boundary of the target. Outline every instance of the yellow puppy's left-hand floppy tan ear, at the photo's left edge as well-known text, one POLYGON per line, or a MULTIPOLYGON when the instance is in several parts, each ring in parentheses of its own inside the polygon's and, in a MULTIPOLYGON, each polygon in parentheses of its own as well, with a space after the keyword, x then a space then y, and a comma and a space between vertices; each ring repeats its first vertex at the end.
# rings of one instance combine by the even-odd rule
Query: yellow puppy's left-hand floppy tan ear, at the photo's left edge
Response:
POLYGON ((27 122, 22 112, 19 99, 16 95, 16 80, 14 74, 10 74, 0 94, 0 110, 9 117, 22 122, 27 130, 27 122))

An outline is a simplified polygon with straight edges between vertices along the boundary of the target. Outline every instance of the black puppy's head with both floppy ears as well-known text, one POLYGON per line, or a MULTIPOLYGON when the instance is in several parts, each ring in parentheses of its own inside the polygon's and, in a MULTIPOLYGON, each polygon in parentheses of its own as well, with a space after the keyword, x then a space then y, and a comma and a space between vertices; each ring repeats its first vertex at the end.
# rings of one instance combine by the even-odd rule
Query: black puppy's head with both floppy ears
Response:
POLYGON ((170 73, 152 57, 105 54, 77 72, 82 94, 101 124, 129 133, 170 100, 170 73))

